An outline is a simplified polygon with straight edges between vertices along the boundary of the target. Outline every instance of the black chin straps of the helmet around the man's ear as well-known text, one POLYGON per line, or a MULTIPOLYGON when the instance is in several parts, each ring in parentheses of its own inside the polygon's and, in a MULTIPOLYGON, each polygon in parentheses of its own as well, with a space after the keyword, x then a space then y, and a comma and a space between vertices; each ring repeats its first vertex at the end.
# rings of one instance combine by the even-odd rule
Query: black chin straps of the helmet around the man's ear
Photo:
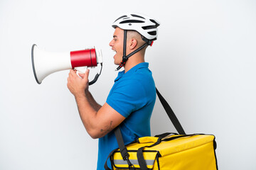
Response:
POLYGON ((136 52, 139 52, 139 50, 142 50, 146 45, 152 46, 153 40, 148 40, 142 36, 142 40, 144 40, 146 43, 142 45, 142 47, 139 47, 137 50, 134 50, 131 52, 129 55, 126 55, 126 46, 127 46, 127 30, 124 30, 124 47, 123 47, 123 57, 122 57, 122 62, 119 64, 117 67, 116 71, 124 67, 125 62, 127 62, 128 58, 134 55, 136 52))

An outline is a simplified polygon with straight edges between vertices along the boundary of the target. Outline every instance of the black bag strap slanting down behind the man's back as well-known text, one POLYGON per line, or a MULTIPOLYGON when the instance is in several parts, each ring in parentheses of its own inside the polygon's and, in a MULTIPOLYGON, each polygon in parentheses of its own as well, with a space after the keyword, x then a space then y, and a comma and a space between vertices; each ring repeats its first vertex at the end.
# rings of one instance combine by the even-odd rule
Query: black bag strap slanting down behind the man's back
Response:
POLYGON ((159 100, 161 104, 164 106, 164 110, 166 111, 167 115, 169 116, 171 122, 174 124, 174 127, 176 128, 178 134, 180 135, 186 135, 185 131, 183 130, 181 123, 179 123, 178 118, 174 114, 174 111, 171 109, 167 101, 164 99, 163 96, 159 93, 159 91, 156 89, 156 94, 159 96, 159 100))

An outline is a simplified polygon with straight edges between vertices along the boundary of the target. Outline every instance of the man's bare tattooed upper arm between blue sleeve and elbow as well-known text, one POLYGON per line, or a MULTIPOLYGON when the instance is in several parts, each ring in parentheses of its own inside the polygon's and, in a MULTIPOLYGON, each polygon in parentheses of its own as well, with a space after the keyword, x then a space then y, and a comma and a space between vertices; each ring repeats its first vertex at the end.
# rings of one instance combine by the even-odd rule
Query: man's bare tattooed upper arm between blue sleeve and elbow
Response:
POLYGON ((92 138, 100 138, 116 128, 124 120, 124 116, 114 110, 109 104, 105 103, 97 111, 95 129, 91 132, 92 138))

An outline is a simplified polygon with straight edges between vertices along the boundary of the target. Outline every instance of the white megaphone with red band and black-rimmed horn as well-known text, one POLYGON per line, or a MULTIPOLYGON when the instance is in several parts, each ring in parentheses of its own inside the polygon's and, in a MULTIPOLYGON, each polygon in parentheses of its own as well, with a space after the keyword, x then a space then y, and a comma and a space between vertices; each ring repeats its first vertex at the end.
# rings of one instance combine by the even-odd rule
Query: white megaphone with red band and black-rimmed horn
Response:
MULTIPOLYGON (((78 74, 78 72, 85 73, 87 67, 97 67, 97 64, 100 64, 100 73, 102 71, 102 52, 95 48, 71 52, 47 52, 34 44, 31 50, 31 60, 33 74, 38 84, 41 84, 49 74, 65 69, 76 69, 78 74)), ((99 76, 100 74, 96 74, 95 79, 90 81, 89 85, 94 84, 99 76)))

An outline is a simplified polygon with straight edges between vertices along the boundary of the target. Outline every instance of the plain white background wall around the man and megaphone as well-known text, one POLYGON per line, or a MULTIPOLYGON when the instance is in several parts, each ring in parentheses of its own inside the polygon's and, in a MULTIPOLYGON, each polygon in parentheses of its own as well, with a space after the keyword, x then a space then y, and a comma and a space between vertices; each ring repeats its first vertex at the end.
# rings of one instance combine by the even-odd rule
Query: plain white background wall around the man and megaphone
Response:
MULTIPOLYGON (((111 24, 127 11, 161 22, 146 62, 186 132, 215 135, 219 169, 256 169, 255 8, 249 0, 1 0, 0 169, 96 169, 97 140, 66 87, 68 70, 36 84, 31 46, 102 49, 102 75, 90 91, 103 104, 117 76, 111 24)), ((151 133, 162 132, 176 130, 157 99, 151 133)))

